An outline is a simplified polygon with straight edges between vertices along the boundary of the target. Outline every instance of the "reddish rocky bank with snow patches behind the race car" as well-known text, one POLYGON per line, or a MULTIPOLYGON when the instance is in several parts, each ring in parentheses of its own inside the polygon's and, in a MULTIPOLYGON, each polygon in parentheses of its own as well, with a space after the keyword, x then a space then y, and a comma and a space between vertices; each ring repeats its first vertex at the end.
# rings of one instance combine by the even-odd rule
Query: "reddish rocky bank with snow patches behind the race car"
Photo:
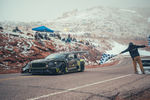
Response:
POLYGON ((31 36, 22 33, 0 33, 0 73, 19 72, 20 68, 29 61, 43 59, 49 54, 66 51, 88 51, 84 55, 86 65, 98 64, 101 57, 100 51, 91 45, 79 42, 65 43, 55 37, 51 40, 34 40, 31 36), (25 37, 26 36, 26 37, 25 37))

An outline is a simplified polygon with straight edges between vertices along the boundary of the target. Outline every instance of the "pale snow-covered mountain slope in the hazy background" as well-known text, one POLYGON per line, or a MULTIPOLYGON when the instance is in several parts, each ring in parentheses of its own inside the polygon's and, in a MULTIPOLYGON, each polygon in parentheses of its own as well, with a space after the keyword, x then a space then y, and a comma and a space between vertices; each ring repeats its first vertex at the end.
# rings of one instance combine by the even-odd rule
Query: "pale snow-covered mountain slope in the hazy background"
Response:
MULTIPOLYGON (((119 8, 94 7, 64 13, 54 21, 57 29, 69 33, 91 33, 107 37, 145 37, 150 33, 147 18, 119 8)), ((51 25, 51 23, 49 23, 51 25)))

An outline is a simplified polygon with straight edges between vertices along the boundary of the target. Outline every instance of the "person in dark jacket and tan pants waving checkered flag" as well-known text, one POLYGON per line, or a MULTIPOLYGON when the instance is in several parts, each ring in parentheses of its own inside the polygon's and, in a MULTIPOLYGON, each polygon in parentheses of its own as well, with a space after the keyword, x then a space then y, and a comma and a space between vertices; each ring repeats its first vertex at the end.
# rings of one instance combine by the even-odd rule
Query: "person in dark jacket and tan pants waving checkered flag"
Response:
POLYGON ((144 48, 146 47, 145 45, 134 45, 132 42, 129 43, 129 46, 126 50, 122 51, 120 54, 125 53, 125 52, 129 52, 130 56, 132 58, 133 61, 133 66, 134 66, 134 71, 135 73, 137 73, 137 63, 140 66, 141 71, 143 72, 143 74, 145 74, 144 69, 143 69, 143 64, 141 61, 141 57, 140 54, 138 52, 138 48, 144 48))

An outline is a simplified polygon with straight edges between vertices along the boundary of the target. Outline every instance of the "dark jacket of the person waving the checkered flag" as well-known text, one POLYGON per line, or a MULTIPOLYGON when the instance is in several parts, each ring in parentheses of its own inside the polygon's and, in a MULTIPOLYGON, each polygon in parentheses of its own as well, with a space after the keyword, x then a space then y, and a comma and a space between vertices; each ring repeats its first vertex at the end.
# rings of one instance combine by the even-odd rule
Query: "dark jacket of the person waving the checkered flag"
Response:
POLYGON ((140 56, 139 52, 138 52, 138 48, 144 48, 146 47, 145 45, 134 45, 134 44, 129 44, 129 47, 122 51, 121 53, 125 53, 128 52, 130 53, 130 56, 132 57, 132 59, 134 57, 140 56))

